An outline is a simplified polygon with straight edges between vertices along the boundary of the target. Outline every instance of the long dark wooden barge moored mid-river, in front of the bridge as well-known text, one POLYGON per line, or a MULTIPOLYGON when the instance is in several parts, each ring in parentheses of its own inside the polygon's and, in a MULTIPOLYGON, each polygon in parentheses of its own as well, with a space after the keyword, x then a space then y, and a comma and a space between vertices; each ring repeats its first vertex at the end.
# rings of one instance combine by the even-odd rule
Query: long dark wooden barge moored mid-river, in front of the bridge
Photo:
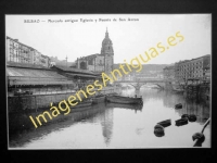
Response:
POLYGON ((139 103, 142 104, 142 98, 130 98, 130 97, 123 97, 123 96, 106 96, 106 102, 114 102, 114 103, 139 103))

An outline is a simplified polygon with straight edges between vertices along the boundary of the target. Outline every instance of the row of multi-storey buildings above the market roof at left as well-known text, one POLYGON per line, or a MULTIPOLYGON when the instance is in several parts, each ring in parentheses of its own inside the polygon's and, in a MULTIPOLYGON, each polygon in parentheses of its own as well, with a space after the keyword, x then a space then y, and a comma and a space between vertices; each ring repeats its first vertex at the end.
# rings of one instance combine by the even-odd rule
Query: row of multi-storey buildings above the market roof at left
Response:
POLYGON ((49 67, 50 59, 38 50, 7 36, 7 62, 37 64, 49 67))

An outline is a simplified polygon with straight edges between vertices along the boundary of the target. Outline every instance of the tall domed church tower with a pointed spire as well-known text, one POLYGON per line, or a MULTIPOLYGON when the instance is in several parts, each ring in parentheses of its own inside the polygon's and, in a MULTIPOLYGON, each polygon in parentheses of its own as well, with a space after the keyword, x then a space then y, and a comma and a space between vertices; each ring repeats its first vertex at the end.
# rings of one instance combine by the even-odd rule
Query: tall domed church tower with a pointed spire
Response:
POLYGON ((108 37, 107 28, 105 38, 102 41, 101 55, 104 55, 104 72, 108 74, 113 71, 114 50, 112 40, 108 37))

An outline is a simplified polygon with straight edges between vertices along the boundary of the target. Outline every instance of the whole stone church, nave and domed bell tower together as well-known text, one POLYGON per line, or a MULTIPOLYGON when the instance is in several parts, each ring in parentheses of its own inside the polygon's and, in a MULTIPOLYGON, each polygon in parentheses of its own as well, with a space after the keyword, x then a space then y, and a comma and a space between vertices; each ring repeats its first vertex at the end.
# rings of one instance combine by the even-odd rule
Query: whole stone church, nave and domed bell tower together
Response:
POLYGON ((112 40, 106 30, 105 38, 102 41, 101 53, 90 54, 87 57, 78 58, 76 60, 76 67, 88 70, 97 73, 111 73, 114 65, 114 50, 112 40))

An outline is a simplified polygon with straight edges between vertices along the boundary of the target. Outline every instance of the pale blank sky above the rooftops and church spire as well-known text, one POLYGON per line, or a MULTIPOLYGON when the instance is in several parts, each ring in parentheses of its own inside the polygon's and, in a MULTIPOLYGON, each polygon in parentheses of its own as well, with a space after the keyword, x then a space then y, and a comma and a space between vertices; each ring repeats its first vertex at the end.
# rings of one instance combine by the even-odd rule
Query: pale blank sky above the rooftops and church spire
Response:
POLYGON ((180 60, 210 54, 210 14, 68 14, 68 15, 7 15, 7 36, 18 39, 48 57, 75 61, 79 57, 100 53, 107 27, 113 41, 114 62, 143 54, 158 42, 167 43, 177 32, 184 40, 152 59, 150 64, 170 64, 180 60), (93 22, 80 22, 93 20, 93 22), (101 22, 111 20, 110 22, 101 22), (113 20, 116 18, 116 22, 113 20), (126 21, 119 21, 125 18, 126 21), (128 21, 139 18, 139 21, 128 21), (39 20, 40 23, 24 23, 39 20), (49 20, 62 23, 49 23, 49 20), (78 22, 65 22, 78 20, 78 22), (95 22, 97 20, 97 22, 95 22), (44 22, 42 22, 44 21, 44 22))

